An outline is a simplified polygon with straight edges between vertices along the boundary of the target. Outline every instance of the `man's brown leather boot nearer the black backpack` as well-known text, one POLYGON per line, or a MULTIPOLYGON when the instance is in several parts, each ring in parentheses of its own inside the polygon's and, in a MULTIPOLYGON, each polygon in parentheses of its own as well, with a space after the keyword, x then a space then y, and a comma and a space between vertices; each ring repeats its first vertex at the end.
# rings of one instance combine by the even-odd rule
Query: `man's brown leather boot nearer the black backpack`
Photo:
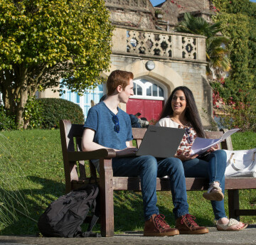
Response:
POLYGON ((178 234, 178 229, 170 228, 169 224, 164 221, 163 214, 153 214, 145 222, 144 236, 175 236, 178 234))

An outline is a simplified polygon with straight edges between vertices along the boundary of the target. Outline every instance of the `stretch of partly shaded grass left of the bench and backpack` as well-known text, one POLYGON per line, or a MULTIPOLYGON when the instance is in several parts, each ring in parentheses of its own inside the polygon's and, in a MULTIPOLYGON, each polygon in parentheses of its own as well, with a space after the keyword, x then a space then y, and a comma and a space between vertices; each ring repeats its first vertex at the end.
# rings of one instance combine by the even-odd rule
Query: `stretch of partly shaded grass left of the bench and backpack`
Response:
POLYGON ((35 234, 39 215, 64 192, 60 133, 38 129, 0 134, 1 234, 35 234))

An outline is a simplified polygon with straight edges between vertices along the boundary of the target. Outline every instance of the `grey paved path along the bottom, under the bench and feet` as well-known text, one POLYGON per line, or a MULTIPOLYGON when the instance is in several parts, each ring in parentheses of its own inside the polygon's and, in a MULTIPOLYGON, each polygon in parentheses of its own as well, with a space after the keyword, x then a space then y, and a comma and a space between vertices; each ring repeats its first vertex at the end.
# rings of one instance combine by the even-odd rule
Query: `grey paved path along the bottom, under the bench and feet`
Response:
POLYGON ((251 225, 240 232, 218 232, 210 227, 210 232, 203 235, 178 235, 164 237, 145 237, 139 232, 126 232, 113 237, 87 238, 52 238, 36 236, 0 236, 1 245, 190 245, 190 244, 256 244, 256 225, 251 225))

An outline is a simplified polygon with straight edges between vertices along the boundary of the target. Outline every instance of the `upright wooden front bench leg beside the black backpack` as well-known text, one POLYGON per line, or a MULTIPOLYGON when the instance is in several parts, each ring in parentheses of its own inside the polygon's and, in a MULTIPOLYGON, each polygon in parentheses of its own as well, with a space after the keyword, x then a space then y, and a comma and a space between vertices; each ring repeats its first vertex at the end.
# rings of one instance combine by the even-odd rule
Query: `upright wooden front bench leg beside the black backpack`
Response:
POLYGON ((113 200, 112 160, 100 162, 100 226, 102 236, 114 236, 114 200, 113 200))

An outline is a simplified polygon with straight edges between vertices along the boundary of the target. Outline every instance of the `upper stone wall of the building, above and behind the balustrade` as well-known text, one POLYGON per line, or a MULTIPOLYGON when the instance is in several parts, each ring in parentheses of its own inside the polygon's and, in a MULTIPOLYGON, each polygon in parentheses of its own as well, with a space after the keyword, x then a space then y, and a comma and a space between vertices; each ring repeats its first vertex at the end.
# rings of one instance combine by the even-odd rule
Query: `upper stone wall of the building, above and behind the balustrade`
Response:
POLYGON ((172 30, 185 12, 202 16, 208 21, 209 16, 214 14, 210 11, 210 0, 166 0, 156 7, 149 0, 105 0, 105 3, 114 25, 147 30, 172 30))

